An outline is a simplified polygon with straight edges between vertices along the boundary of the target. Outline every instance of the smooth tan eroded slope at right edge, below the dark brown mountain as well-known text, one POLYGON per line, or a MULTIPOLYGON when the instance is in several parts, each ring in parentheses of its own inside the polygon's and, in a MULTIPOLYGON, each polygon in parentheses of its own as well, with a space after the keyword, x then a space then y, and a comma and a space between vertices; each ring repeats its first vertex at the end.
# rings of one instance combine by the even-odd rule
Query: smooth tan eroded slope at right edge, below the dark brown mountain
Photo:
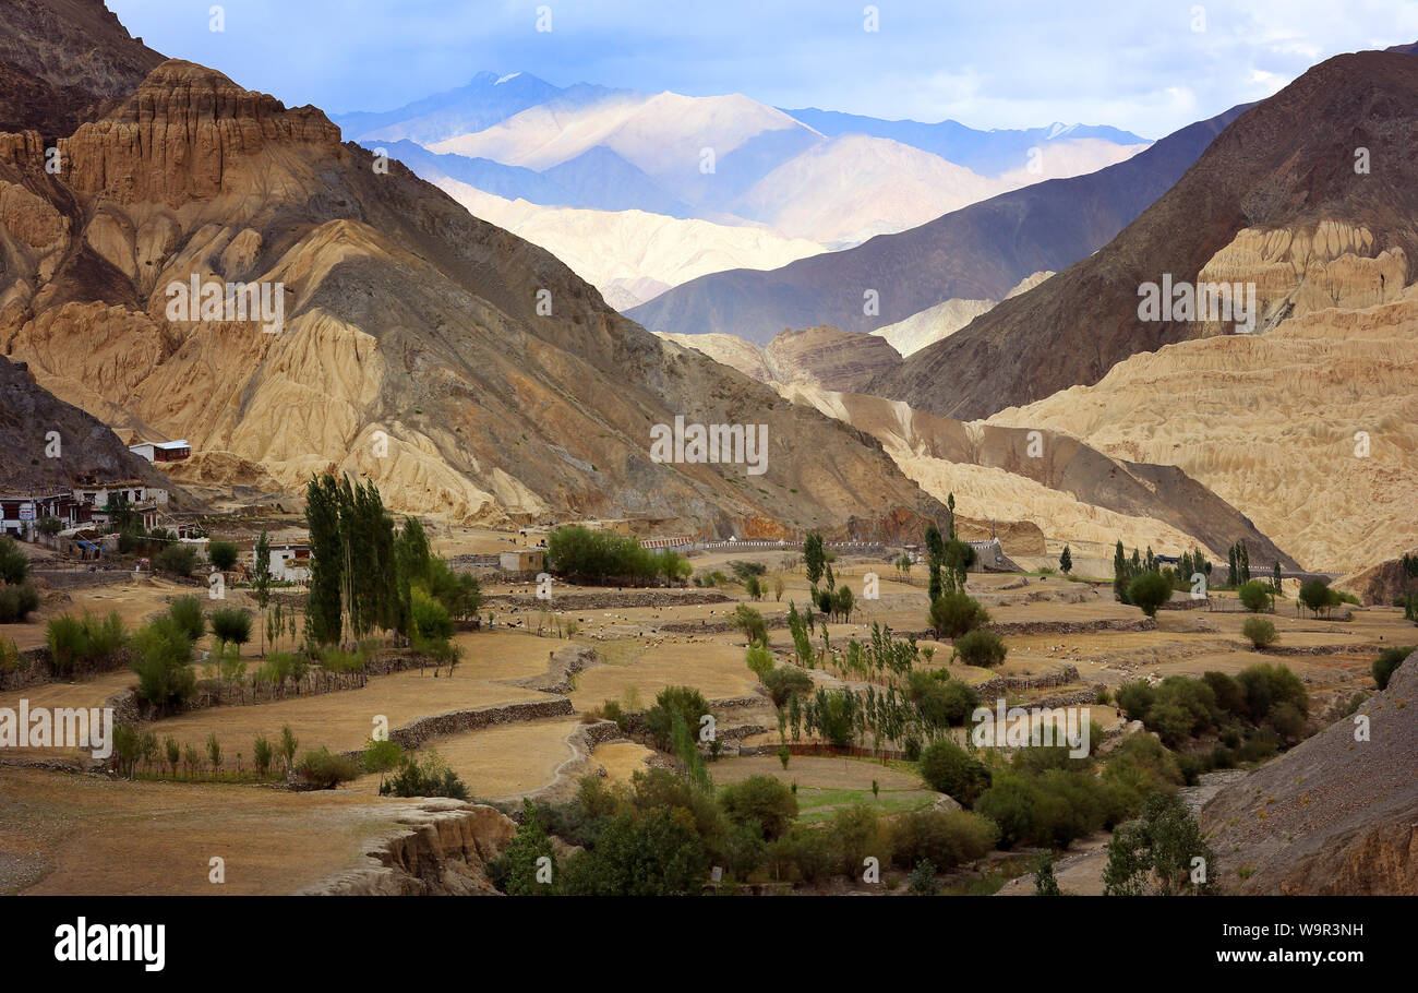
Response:
POLYGON ((1409 288, 1398 302, 1134 355, 1096 386, 987 423, 1178 465, 1306 567, 1350 573, 1418 545, 1415 370, 1409 288))

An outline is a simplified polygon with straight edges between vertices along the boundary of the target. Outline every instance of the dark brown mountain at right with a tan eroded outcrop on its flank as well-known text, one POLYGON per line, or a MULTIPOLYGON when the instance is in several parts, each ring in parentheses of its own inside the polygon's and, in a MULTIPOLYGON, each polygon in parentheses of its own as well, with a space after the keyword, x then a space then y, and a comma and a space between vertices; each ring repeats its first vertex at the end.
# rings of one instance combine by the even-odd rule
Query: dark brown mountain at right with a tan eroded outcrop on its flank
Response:
POLYGON ((1415 106, 1411 55, 1316 65, 1236 118, 1098 254, 912 355, 869 392, 984 417, 1096 383, 1137 352, 1225 331, 1141 321, 1139 288, 1168 274, 1258 284, 1258 329, 1326 305, 1395 299, 1418 250, 1415 106))

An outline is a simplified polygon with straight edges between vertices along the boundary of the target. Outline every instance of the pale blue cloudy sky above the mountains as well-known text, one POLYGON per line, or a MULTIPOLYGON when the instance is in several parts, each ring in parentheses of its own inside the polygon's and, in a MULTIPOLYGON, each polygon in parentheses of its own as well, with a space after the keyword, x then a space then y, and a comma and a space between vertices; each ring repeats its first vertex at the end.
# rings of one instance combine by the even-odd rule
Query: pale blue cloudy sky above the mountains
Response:
POLYGON ((1332 55, 1418 41, 1418 0, 227 0, 221 31, 208 0, 108 6, 164 55, 330 113, 491 70, 1144 138, 1269 96, 1332 55))

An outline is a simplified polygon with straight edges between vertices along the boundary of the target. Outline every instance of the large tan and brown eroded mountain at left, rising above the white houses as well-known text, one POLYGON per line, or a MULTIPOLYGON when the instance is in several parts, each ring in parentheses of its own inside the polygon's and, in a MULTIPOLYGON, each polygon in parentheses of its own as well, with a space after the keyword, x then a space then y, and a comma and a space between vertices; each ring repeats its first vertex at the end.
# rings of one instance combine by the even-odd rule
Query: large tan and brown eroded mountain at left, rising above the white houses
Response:
POLYGON ((0 352, 113 426, 189 438, 194 472, 359 472, 465 522, 873 533, 942 514, 875 443, 659 342, 315 108, 167 61, 58 148, 48 176, 38 133, 0 135, 0 352), (278 333, 170 311, 194 277, 278 289, 278 333), (676 416, 764 424, 766 472, 654 461, 676 416))

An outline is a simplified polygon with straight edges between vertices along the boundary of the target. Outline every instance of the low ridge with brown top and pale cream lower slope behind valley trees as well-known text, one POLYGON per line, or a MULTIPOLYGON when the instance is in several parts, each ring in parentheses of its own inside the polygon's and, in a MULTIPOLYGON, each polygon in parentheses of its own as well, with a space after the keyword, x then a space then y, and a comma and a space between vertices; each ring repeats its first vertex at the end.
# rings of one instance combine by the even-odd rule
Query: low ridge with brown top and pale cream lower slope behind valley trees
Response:
POLYGON ((964 424, 805 384, 780 390, 875 437, 926 492, 942 501, 954 494, 961 515, 1032 522, 1075 552, 1106 556, 1122 540, 1159 555, 1197 546, 1221 560, 1244 538, 1254 562, 1293 565, 1234 506, 1180 470, 1109 458, 1046 430, 1031 437, 1028 430, 964 424))

